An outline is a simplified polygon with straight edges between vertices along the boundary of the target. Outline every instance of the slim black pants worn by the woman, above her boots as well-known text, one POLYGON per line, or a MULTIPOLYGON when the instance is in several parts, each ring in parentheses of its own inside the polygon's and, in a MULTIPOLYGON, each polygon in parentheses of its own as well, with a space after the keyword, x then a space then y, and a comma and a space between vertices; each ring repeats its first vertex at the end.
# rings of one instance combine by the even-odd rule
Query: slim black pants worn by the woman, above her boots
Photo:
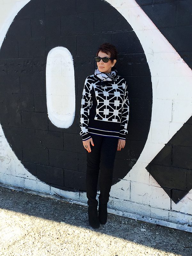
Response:
POLYGON ((118 138, 102 137, 91 134, 93 144, 91 153, 87 152, 87 204, 97 206, 97 182, 100 170, 100 195, 99 204, 107 204, 111 190, 114 160, 117 151, 118 138))

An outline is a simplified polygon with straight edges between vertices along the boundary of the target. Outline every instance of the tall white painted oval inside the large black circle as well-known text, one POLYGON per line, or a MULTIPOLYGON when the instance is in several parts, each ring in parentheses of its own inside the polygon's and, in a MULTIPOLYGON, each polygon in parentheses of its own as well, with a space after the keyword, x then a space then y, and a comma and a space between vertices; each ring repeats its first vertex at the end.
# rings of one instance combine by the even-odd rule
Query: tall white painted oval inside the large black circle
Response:
POLYGON ((68 128, 75 117, 75 73, 73 57, 65 47, 53 48, 47 55, 46 100, 50 121, 68 128))

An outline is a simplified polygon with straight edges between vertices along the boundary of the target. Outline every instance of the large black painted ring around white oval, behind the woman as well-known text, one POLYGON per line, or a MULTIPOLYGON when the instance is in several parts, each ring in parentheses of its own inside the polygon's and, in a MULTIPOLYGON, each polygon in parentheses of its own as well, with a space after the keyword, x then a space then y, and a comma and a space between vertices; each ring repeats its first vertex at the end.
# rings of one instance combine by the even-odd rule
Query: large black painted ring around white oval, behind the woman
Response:
POLYGON ((0 122, 5 137, 28 171, 55 188, 86 190, 79 114, 84 80, 94 72, 94 56, 103 42, 117 46, 117 69, 129 88, 129 132, 125 148, 116 153, 115 184, 143 150, 152 109, 147 60, 124 17, 99 0, 31 0, 15 17, 0 49, 0 122), (54 126, 47 115, 46 58, 56 46, 66 47, 74 60, 76 115, 68 129, 54 126))

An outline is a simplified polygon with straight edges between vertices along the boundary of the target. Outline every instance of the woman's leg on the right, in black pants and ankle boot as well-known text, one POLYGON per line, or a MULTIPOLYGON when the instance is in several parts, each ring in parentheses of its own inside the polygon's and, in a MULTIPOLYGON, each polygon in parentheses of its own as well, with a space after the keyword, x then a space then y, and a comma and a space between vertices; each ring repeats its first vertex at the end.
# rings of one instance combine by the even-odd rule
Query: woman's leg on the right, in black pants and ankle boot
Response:
POLYGON ((104 137, 101 146, 99 195, 99 220, 101 224, 105 224, 107 221, 107 203, 112 185, 117 144, 118 138, 104 137))

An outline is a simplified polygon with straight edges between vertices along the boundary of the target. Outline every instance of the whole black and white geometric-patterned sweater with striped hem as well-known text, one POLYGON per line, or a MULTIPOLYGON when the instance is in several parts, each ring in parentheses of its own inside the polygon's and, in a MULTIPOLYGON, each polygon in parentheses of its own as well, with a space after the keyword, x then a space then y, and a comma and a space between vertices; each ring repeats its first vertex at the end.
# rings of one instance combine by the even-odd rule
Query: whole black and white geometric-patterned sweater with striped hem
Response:
POLYGON ((125 140, 129 120, 126 81, 117 76, 116 81, 104 87, 100 82, 97 76, 91 75, 84 83, 80 113, 82 140, 90 139, 91 134, 125 140))

